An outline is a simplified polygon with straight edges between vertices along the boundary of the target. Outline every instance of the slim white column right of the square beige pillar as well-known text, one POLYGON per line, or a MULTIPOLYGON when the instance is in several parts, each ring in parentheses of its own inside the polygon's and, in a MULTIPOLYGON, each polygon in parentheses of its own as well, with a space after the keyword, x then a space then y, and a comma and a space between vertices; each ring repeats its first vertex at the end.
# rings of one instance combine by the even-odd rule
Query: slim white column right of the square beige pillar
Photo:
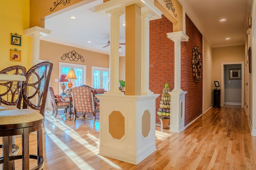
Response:
POLYGON ((149 20, 153 16, 150 12, 142 12, 141 33, 141 94, 153 94, 149 90, 149 20))

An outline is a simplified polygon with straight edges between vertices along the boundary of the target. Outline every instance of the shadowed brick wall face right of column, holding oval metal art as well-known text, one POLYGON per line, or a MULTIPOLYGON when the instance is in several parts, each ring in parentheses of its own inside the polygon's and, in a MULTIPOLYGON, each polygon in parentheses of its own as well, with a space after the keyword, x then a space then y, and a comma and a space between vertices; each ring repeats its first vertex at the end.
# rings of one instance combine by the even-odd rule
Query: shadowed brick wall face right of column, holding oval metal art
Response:
POLYGON ((203 95, 203 65, 198 83, 194 80, 192 69, 192 53, 196 45, 201 52, 201 63, 203 62, 202 34, 187 15, 186 35, 189 37, 188 41, 181 44, 181 89, 187 92, 185 95, 185 126, 202 114, 203 95))

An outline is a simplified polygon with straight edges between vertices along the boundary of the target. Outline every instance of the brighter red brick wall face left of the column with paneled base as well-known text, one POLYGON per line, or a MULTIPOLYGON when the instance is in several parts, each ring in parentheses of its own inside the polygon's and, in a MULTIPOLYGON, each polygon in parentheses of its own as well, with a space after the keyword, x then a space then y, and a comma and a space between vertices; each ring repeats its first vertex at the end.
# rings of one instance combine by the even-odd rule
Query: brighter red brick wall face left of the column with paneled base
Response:
MULTIPOLYGON (((172 23, 165 16, 150 21, 149 89, 160 94, 156 99, 156 112, 165 83, 174 89, 174 42, 166 34, 170 32, 173 32, 172 23)), ((158 118, 156 114, 156 124, 160 124, 158 118)))

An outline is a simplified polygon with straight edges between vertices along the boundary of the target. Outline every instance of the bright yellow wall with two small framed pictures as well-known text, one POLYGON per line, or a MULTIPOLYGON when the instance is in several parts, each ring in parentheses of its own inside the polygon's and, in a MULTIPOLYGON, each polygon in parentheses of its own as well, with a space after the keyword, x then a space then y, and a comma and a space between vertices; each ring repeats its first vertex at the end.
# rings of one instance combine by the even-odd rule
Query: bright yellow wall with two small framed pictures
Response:
POLYGON ((27 70, 32 66, 31 38, 23 34, 29 28, 29 0, 0 1, 0 70, 13 65, 22 65, 27 70), (10 33, 22 35, 21 46, 10 45, 10 33), (21 61, 10 61, 10 49, 21 50, 21 61))

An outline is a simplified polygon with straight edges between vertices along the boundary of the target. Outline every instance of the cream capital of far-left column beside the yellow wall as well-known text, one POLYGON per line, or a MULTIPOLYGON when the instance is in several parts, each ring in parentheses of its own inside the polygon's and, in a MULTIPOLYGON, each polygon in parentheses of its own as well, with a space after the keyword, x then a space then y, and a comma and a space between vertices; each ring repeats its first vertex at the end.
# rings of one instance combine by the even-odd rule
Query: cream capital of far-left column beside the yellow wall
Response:
POLYGON ((38 26, 31 27, 31 28, 25 29, 23 31, 24 35, 27 35, 27 36, 30 36, 30 37, 39 37, 39 38, 50 35, 51 32, 52 31, 50 29, 45 29, 45 28, 38 27, 38 26))

